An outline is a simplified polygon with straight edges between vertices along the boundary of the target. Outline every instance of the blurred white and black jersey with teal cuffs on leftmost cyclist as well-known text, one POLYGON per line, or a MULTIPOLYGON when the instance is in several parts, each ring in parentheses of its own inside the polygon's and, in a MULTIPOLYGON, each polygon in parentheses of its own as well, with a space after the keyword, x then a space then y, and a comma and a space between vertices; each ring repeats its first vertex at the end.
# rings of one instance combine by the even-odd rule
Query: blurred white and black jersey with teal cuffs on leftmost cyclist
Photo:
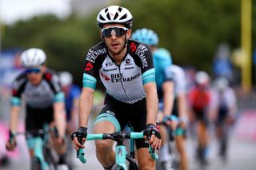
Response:
POLYGON ((64 102, 65 98, 61 91, 58 75, 49 69, 43 74, 39 85, 32 85, 26 73, 21 73, 14 80, 12 93, 12 105, 21 105, 21 101, 24 99, 26 105, 34 109, 44 109, 58 101, 64 102))

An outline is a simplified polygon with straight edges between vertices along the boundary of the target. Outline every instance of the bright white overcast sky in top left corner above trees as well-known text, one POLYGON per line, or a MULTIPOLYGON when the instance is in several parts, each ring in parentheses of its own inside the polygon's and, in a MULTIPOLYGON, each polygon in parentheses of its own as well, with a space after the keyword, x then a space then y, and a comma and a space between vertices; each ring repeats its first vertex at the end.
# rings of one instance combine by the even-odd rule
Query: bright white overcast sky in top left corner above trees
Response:
POLYGON ((0 0, 0 20, 12 24, 38 14, 56 14, 65 18, 70 14, 71 0, 0 0))

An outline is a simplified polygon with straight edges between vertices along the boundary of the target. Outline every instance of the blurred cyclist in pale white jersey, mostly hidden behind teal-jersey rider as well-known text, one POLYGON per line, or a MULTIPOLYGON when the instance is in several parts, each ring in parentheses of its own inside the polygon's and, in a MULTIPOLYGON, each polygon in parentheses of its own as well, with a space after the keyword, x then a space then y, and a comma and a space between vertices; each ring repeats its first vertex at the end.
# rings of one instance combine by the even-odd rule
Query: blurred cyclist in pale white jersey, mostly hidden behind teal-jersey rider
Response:
POLYGON ((178 128, 175 130, 175 141, 180 156, 180 165, 182 170, 188 169, 186 154, 186 125, 188 121, 187 93, 186 93, 186 75, 182 67, 171 65, 170 71, 173 74, 174 81, 174 107, 172 115, 178 117, 178 128))

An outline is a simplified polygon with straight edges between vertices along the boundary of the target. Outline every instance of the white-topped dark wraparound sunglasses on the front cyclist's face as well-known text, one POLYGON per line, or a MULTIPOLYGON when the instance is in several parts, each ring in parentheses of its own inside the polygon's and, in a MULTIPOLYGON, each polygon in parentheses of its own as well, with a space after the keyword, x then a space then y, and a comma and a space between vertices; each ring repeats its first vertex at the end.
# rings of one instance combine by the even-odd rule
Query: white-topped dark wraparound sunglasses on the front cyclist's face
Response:
POLYGON ((106 27, 102 29, 102 38, 111 38, 111 36, 114 34, 116 37, 122 37, 124 34, 126 34, 126 31, 128 29, 125 27, 106 27))

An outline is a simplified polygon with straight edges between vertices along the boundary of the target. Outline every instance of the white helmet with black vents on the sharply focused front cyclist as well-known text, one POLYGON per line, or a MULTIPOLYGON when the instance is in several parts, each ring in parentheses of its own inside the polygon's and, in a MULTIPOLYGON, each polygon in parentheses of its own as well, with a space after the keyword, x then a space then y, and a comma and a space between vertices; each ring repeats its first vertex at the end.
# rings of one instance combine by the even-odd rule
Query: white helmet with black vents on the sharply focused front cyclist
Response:
POLYGON ((122 6, 109 6, 102 9, 97 16, 99 27, 103 27, 106 23, 120 23, 124 24, 126 28, 130 29, 132 26, 133 16, 130 11, 122 6))

